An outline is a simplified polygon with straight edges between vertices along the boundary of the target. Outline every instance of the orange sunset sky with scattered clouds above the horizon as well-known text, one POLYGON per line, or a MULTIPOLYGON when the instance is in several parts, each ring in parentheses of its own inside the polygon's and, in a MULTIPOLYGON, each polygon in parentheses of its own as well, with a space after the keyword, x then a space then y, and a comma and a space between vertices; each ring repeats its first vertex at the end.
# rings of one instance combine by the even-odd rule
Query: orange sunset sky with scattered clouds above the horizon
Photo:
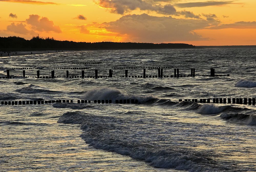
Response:
POLYGON ((0 0, 0 37, 256 45, 256 0, 0 0))

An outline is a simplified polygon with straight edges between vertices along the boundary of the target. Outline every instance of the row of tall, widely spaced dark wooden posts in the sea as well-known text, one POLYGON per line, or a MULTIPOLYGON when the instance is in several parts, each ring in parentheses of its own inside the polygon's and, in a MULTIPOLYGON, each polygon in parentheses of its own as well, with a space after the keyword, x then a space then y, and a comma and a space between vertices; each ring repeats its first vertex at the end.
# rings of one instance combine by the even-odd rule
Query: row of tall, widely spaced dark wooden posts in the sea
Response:
MULTIPOLYGON (((6 73, 7 73, 7 78, 10 78, 10 70, 9 69, 6 70, 6 73)), ((195 77, 195 68, 191 68, 191 74, 188 75, 188 76, 195 77)), ((211 68, 211 75, 210 76, 218 76, 218 75, 215 75, 214 72, 212 72, 212 68, 211 68)), ((219 75, 219 76, 224 76, 224 75, 219 75)), ((229 76, 229 75, 227 75, 227 76, 229 76)), ((25 70, 23 70, 23 77, 25 77, 25 70)), ((67 78, 69 77, 69 71, 66 71, 66 77, 67 78)), ((113 77, 113 70, 111 70, 111 69, 109 70, 109 77, 113 77)), ((127 69, 125 70, 125 76, 123 76, 123 77, 128 77, 128 70, 127 69)), ((131 77, 131 76, 129 76, 129 77, 131 77)), ((147 78, 147 77, 148 76, 146 76, 146 68, 144 68, 143 69, 143 78, 147 78)), ((153 76, 153 78, 154 77, 157 77, 157 76, 153 76)), ((158 78, 160 78, 160 77, 161 78, 163 77, 163 68, 158 68, 158 78)), ((166 77, 166 76, 164 75, 164 77, 166 77)), ((171 75, 170 77, 173 77, 173 75, 171 75)), ((180 77, 178 68, 174 69, 174 77, 180 77)), ((183 76, 181 76, 181 77, 183 77, 183 76)), ((41 78, 40 77, 40 71, 37 71, 37 78, 41 78)), ((54 70, 51 71, 51 78, 55 78, 55 71, 54 70)), ((84 78, 84 70, 82 70, 82 78, 84 78)), ((95 69, 95 78, 98 78, 98 70, 97 69, 95 69)), ((151 76, 150 76, 150 78, 151 78, 151 76)))

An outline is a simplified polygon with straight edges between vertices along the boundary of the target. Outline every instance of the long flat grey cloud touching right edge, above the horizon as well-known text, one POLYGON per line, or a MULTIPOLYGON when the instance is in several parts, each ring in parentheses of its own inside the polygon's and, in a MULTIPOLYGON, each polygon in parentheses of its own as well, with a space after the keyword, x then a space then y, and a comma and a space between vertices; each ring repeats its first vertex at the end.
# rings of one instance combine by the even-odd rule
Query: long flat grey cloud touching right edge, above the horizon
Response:
POLYGON ((219 25, 219 26, 210 27, 208 29, 226 29, 226 28, 255 29, 256 28, 256 21, 238 21, 238 22, 235 22, 235 23, 222 24, 222 25, 219 25))

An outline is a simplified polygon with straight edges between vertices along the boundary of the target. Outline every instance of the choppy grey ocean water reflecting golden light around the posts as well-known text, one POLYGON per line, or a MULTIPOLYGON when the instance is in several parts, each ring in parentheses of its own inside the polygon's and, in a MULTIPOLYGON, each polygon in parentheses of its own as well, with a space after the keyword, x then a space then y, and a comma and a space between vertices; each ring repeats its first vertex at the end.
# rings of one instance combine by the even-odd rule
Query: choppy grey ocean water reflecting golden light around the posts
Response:
MULTIPOLYGON (((255 106, 178 101, 255 98, 255 56, 251 48, 2 58, 0 76, 8 68, 42 67, 41 76, 55 70, 57 78, 0 79, 1 101, 138 99, 140 104, 0 105, 0 171, 256 171, 255 106), (86 67, 86 76, 95 69, 108 76, 113 67, 139 67, 128 69, 128 75, 143 75, 143 67, 170 67, 163 75, 173 75, 174 68, 188 75, 195 68, 196 76, 123 78, 125 69, 113 69, 113 78, 65 78, 66 70, 56 67, 86 67), (202 76, 210 75, 212 67, 217 75, 230 76, 202 76)), ((146 70, 146 75, 157 73, 146 70)), ((81 70, 69 74, 78 76, 81 70)), ((10 70, 10 75, 22 76, 22 70, 10 70)), ((36 76, 36 70, 26 75, 36 76)))

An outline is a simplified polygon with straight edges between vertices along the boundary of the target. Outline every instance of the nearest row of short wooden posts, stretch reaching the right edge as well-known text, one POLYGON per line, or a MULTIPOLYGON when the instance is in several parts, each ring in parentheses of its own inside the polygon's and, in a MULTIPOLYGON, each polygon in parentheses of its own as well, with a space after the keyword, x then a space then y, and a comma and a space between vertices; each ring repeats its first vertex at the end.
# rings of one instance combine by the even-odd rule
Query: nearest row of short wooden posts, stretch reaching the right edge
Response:
MULTIPOLYGON (((183 99, 179 99, 179 101, 183 101, 183 99)), ((184 101, 194 101, 198 102, 198 99, 184 99, 184 101)), ((200 103, 220 103, 226 104, 226 98, 213 98, 211 99, 199 99, 200 103)), ((228 98, 228 104, 243 104, 243 105, 255 105, 255 98, 228 98)))

